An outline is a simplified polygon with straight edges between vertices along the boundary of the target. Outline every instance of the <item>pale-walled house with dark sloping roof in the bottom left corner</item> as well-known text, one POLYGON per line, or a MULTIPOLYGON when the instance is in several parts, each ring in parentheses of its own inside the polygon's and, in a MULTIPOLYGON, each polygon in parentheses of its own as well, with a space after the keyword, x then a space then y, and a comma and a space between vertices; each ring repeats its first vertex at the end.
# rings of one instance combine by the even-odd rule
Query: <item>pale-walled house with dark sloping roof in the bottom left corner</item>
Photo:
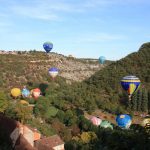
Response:
POLYGON ((41 138, 41 134, 36 129, 22 125, 3 114, 0 114, 0 125, 2 129, 7 131, 7 136, 11 139, 14 150, 23 150, 23 147, 28 147, 26 150, 35 150, 34 141, 41 138))

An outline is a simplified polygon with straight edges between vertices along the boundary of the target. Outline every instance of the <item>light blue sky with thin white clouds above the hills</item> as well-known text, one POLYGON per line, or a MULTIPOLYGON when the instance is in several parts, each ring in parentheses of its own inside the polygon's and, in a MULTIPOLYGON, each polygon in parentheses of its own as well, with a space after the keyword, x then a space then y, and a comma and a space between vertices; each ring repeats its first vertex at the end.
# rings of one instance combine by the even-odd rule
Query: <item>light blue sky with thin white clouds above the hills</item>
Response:
POLYGON ((119 60, 150 42, 149 0, 0 0, 0 49, 119 60))

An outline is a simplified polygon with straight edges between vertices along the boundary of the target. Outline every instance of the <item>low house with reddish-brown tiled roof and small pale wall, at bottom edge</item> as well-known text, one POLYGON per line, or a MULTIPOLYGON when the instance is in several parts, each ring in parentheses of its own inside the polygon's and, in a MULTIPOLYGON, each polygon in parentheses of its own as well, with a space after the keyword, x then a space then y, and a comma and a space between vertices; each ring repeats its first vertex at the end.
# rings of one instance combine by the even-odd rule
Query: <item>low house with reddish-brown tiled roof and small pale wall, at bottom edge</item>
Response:
POLYGON ((35 142, 37 150, 64 150, 64 142, 58 135, 45 137, 35 142))

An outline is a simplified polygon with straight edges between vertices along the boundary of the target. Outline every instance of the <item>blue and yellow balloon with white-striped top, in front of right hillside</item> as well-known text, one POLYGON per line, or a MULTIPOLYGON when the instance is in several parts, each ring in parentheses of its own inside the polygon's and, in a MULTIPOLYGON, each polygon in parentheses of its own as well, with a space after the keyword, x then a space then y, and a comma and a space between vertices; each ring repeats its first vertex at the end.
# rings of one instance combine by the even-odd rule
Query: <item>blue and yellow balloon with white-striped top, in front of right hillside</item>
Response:
POLYGON ((132 94, 138 89, 140 83, 140 79, 136 76, 125 76, 122 78, 121 85, 123 89, 127 91, 129 100, 131 100, 132 94))

